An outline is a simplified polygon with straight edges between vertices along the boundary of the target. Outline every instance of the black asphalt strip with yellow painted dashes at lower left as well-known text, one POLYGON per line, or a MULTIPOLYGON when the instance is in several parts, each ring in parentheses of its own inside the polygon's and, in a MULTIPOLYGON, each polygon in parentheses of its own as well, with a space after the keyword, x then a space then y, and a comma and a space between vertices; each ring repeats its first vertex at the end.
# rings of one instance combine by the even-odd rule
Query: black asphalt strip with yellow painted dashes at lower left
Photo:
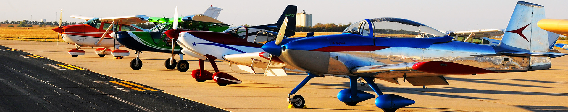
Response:
POLYGON ((225 111, 0 46, 0 111, 225 111))

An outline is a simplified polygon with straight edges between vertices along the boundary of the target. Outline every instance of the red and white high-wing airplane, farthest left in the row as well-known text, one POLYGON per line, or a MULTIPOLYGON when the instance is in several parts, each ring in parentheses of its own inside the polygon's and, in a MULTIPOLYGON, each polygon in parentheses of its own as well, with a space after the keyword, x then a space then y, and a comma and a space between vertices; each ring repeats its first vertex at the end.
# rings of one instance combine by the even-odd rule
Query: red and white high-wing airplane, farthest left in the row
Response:
POLYGON ((113 54, 115 57, 123 57, 130 55, 130 51, 118 49, 122 45, 110 36, 111 33, 115 31, 145 31, 146 29, 133 24, 146 23, 150 16, 130 15, 93 18, 89 16, 71 15, 70 17, 85 19, 87 21, 83 24, 54 28, 53 31, 60 33, 65 42, 77 46, 76 49, 68 51, 72 57, 85 55, 85 51, 80 50, 81 46, 100 47, 95 49, 95 53, 97 53, 99 57, 105 57, 107 54, 113 54), (112 26, 114 26, 114 28, 112 26), (115 50, 113 51, 109 48, 115 48, 115 50))

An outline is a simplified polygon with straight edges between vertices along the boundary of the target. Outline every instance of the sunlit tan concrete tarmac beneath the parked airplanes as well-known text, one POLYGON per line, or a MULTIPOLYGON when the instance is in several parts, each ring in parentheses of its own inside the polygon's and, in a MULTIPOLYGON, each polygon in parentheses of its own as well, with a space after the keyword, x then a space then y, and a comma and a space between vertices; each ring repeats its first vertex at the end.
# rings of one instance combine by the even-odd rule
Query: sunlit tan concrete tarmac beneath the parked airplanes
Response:
MULTIPOLYGON (((149 51, 140 54, 143 67, 132 70, 130 61, 136 54, 126 48, 121 49, 131 51, 130 56, 114 59, 111 55, 98 57, 94 53, 96 48, 90 47, 82 47, 85 55, 71 57, 67 51, 75 46, 65 42, 0 40, 0 45, 228 111, 382 111, 375 106, 374 98, 355 106, 337 100, 337 92, 349 88, 345 77, 315 77, 296 93, 305 98, 308 109, 287 109, 287 94, 306 74, 265 77, 262 72, 250 74, 218 62, 221 72, 243 81, 243 84, 219 87, 215 81, 199 83, 191 77, 191 70, 199 66, 197 59, 189 55, 184 57, 190 63, 187 72, 167 70, 164 61, 170 54, 149 51)), ((559 51, 568 53, 568 50, 559 51)), ((176 59, 179 59, 177 55, 176 59)), ((552 61, 549 70, 446 76, 450 85, 426 86, 427 89, 412 86, 402 79, 399 79, 400 85, 382 80, 376 82, 385 94, 397 94, 416 101, 398 111, 568 111, 568 56, 552 61)), ((210 64, 205 65, 206 70, 213 70, 210 64)), ((368 85, 359 89, 373 93, 368 85)))

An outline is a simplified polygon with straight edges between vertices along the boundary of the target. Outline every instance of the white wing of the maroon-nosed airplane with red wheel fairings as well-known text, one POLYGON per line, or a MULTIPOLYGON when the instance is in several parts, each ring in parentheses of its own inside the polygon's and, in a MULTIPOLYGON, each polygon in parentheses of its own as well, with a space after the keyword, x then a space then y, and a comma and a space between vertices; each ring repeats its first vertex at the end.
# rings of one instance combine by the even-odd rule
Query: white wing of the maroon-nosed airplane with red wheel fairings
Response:
POLYGON ((223 59, 236 63, 239 69, 252 74, 256 74, 253 67, 262 68, 266 71, 267 66, 268 72, 265 72, 265 75, 268 76, 286 76, 286 70, 297 71, 295 68, 282 62, 278 57, 273 56, 272 61, 270 61, 270 54, 266 52, 229 54, 223 56, 223 59), (269 62, 270 65, 268 64, 269 62))

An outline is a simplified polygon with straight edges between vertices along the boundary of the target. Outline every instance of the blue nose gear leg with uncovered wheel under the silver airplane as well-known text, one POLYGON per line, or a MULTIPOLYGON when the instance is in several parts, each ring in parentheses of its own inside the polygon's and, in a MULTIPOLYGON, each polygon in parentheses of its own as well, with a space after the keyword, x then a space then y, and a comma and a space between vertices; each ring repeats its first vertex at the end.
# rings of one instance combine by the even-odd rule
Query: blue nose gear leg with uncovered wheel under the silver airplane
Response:
POLYGON ((308 81, 310 81, 312 79, 312 77, 319 77, 319 75, 312 74, 312 73, 308 72, 308 76, 306 77, 306 79, 304 79, 302 82, 300 82, 300 84, 298 84, 298 86, 296 86, 294 89, 292 89, 290 94, 288 94, 288 103, 290 103, 294 108, 302 109, 304 106, 306 106, 306 100, 304 100, 304 97, 302 97, 300 95, 296 95, 292 98, 290 98, 290 96, 292 94, 296 94, 296 92, 298 92, 300 90, 300 88, 304 87, 304 85, 306 85, 306 83, 308 83, 308 81))

